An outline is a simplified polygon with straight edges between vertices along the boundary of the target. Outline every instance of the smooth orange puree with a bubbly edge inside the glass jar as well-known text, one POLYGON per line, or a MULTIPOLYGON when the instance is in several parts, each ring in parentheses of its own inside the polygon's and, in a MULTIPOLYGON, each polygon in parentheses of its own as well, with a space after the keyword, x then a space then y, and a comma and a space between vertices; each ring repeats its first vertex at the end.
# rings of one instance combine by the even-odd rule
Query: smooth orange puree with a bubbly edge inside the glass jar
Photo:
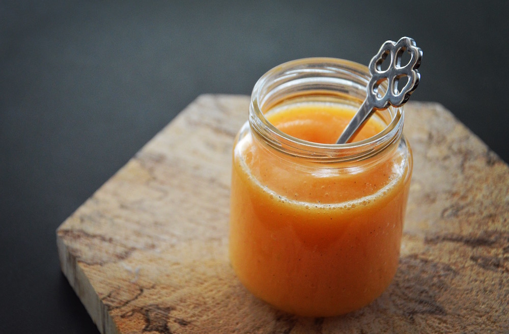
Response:
MULTIPOLYGON (((265 116, 287 134, 332 144, 353 113, 307 103, 265 116)), ((372 117, 354 142, 384 128, 372 117)), ((344 314, 379 296, 399 261, 411 163, 401 151, 348 171, 334 163, 317 168, 271 151, 251 132, 241 135, 233 158, 230 258, 244 286, 302 316, 344 314)))

